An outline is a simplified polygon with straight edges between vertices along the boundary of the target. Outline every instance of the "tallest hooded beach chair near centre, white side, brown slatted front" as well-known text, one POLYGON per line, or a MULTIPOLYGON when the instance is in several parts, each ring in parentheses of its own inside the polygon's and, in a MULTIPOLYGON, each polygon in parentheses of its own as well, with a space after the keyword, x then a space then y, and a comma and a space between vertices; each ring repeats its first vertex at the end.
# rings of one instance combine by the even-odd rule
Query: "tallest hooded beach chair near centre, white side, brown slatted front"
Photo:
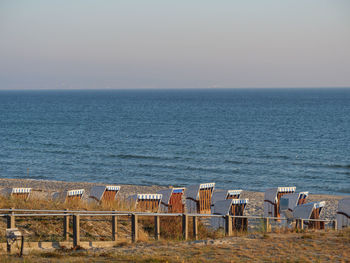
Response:
POLYGON ((210 214, 215 183, 191 185, 186 188, 188 213, 210 214))

